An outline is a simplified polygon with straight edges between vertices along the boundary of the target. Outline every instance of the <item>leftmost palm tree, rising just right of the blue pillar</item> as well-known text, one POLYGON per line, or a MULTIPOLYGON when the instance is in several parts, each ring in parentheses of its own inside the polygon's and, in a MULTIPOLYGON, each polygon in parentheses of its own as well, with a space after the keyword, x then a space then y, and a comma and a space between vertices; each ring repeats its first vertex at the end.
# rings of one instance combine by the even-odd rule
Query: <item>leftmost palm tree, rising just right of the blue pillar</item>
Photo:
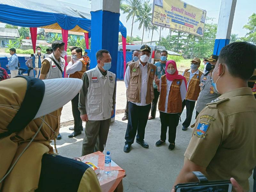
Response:
MULTIPOLYGON (((134 23, 134 17, 138 17, 140 14, 139 7, 141 7, 141 0, 126 0, 127 4, 120 4, 120 9, 123 13, 128 13, 126 16, 126 22, 132 18, 132 28, 134 23)), ((132 30, 131 30, 131 40, 132 43, 132 30)))

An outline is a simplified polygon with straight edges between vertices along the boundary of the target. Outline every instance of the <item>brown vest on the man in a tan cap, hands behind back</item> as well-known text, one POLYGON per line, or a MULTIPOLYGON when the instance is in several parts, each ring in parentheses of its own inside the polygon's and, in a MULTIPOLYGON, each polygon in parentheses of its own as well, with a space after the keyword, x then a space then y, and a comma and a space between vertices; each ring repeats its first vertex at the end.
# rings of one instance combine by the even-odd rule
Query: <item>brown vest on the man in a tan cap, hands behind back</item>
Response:
MULTIPOLYGON (((184 77, 186 78, 187 82, 189 81, 189 77, 190 77, 190 72, 188 72, 189 69, 186 69, 184 71, 184 77)), ((201 71, 199 71, 199 74, 195 74, 189 81, 188 84, 188 91, 186 94, 186 100, 194 100, 196 101, 199 93, 200 93, 200 78, 203 75, 203 73, 201 71)))

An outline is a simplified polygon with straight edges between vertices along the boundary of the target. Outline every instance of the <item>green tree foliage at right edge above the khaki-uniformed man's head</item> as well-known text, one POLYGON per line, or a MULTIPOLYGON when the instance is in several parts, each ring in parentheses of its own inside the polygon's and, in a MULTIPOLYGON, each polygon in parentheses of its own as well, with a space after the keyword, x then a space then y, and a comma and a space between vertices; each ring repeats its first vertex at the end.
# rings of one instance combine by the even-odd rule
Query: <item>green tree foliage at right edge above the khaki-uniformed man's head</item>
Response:
POLYGON ((249 32, 246 33, 245 37, 241 37, 242 41, 247 41, 249 43, 256 45, 256 14, 253 13, 249 18, 246 25, 243 27, 249 32))

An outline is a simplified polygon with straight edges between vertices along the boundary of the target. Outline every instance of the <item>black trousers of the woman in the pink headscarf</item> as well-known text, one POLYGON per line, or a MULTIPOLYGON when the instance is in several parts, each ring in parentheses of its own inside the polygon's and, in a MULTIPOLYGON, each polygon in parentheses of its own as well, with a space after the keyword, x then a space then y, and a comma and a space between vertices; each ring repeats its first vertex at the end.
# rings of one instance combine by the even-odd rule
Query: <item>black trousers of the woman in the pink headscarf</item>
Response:
POLYGON ((176 128, 179 124, 179 119, 180 116, 178 113, 173 113, 173 114, 169 114, 169 113, 164 113, 161 112, 161 136, 160 139, 162 141, 166 140, 166 132, 167 132, 167 126, 169 126, 169 143, 175 143, 175 139, 176 139, 176 128))

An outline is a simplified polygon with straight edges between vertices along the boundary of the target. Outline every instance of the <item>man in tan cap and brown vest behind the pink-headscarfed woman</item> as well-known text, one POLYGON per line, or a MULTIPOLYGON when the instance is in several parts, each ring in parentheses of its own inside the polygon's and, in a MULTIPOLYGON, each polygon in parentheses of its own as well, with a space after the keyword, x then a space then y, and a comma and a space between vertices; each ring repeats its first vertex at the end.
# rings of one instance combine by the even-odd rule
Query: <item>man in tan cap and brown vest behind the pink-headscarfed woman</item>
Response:
POLYGON ((191 123, 193 110, 200 93, 199 84, 203 78, 203 73, 198 69, 200 67, 200 63, 201 60, 199 58, 194 58, 191 60, 190 69, 186 69, 182 74, 187 80, 188 87, 186 99, 182 102, 182 111, 185 106, 187 110, 186 119, 182 124, 183 131, 186 131, 191 123))

